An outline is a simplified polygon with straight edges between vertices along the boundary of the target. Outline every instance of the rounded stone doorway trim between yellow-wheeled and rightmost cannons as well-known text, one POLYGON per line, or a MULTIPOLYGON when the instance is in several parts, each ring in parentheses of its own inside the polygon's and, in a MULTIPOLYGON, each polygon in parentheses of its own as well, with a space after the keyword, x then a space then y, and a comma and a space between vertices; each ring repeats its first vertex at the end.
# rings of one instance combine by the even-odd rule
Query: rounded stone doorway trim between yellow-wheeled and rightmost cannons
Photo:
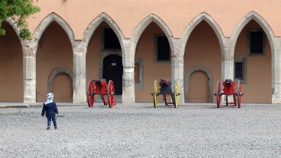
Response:
MULTIPOLYGON (((211 75, 211 72, 210 72, 210 70, 207 69, 207 67, 203 67, 200 65, 191 67, 188 70, 188 72, 186 72, 186 74, 185 74, 185 96, 188 96, 189 78, 193 72, 197 72, 197 71, 202 71, 207 74, 207 77, 209 78, 209 103, 213 103, 213 76, 211 75)), ((185 101, 188 102, 187 97, 185 97, 185 101)))

